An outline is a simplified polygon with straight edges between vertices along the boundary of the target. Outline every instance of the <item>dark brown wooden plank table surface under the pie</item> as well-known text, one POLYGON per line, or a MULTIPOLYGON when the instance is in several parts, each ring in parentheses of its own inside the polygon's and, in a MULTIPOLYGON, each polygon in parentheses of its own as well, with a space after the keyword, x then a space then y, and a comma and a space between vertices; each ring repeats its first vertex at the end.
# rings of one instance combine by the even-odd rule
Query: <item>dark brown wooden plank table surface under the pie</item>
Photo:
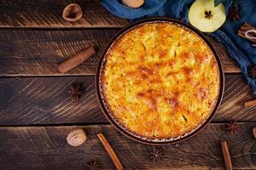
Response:
POLYGON ((256 169, 256 107, 244 107, 251 89, 236 62, 213 40, 225 71, 224 99, 207 128, 187 141, 154 147, 126 139, 108 123, 96 101, 94 75, 100 52, 83 65, 61 74, 57 65, 90 45, 101 50, 128 24, 109 14, 96 1, 74 1, 84 11, 77 22, 62 20, 71 1, 0 2, 0 169, 86 169, 96 160, 101 169, 114 169, 97 133, 104 133, 125 169, 224 169, 220 141, 227 140, 234 169, 256 169), (83 84, 85 94, 69 99, 70 84, 83 84), (237 121, 230 134, 226 122, 237 121), (87 141, 67 144, 75 127, 83 127, 87 141), (161 160, 153 162, 157 148, 161 160))

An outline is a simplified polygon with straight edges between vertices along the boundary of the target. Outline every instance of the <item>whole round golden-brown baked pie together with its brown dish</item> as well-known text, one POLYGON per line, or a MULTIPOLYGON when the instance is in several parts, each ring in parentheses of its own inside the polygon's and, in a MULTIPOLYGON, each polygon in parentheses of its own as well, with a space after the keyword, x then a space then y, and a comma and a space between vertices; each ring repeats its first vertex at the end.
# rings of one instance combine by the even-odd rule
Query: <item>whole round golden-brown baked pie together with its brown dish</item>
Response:
POLYGON ((179 20, 126 26, 103 50, 96 72, 102 111, 125 136, 146 144, 189 139, 211 121, 224 73, 207 38, 179 20))

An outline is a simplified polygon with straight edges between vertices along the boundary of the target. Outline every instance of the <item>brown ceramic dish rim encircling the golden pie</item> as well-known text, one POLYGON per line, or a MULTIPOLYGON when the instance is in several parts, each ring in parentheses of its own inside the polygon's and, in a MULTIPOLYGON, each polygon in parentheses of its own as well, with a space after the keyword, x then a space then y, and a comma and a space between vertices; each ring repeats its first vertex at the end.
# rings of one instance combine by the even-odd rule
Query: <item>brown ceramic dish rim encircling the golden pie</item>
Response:
POLYGON ((96 71, 96 95, 97 95, 97 99, 101 105, 102 111, 104 113, 104 115, 107 117, 108 121, 113 125, 113 127, 115 127, 117 130, 119 130, 120 133, 124 134, 126 137, 136 140, 137 142, 141 142, 143 144, 154 144, 154 145, 164 145, 164 144, 174 144, 177 142, 181 142, 185 139, 189 139, 192 136, 194 136, 195 134, 201 132, 201 130, 204 127, 207 127, 207 124, 209 122, 211 122, 212 117, 215 115, 216 111, 218 110, 218 106, 221 103, 221 99, 223 97, 224 94, 224 71, 223 71, 223 67, 221 65, 220 60, 218 59, 218 55, 216 54, 214 48, 212 48, 212 44, 207 41, 207 37, 201 33, 201 31, 198 31, 195 27, 190 26, 188 24, 183 23, 180 20, 174 20, 171 18, 150 18, 150 19, 145 19, 145 20, 139 20, 137 22, 132 23, 129 26, 125 26, 125 28, 123 28, 121 31, 119 31, 119 33, 117 33, 109 42, 108 45, 106 46, 106 48, 104 48, 104 50, 102 51, 102 55, 101 58, 99 60, 99 64, 97 67, 97 71, 96 71), (218 99, 215 102, 215 105, 211 111, 210 116, 207 117, 207 120, 203 123, 201 123, 201 125, 199 125, 198 127, 196 127, 194 130, 192 130, 189 133, 185 133, 182 136, 178 136, 177 138, 172 138, 172 139, 147 139, 145 137, 141 137, 138 136, 135 133, 132 133, 131 131, 129 131, 126 127, 124 127, 121 123, 118 122, 118 120, 113 116, 113 114, 111 113, 111 111, 109 111, 108 109, 108 104, 104 99, 104 96, 102 95, 102 71, 103 71, 103 66, 105 64, 105 56, 108 53, 108 49, 113 45, 113 43, 123 34, 125 34, 125 32, 130 31, 132 28, 139 26, 139 25, 143 25, 143 24, 147 24, 147 23, 152 23, 152 22, 169 22, 172 23, 174 25, 179 25, 179 26, 183 26, 187 29, 189 29, 190 31, 195 32, 195 34, 197 34, 199 37, 201 37, 205 42, 207 42, 208 46, 212 49, 212 52, 218 62, 218 70, 219 70, 219 80, 220 80, 220 87, 219 87, 219 94, 218 94, 218 99))

